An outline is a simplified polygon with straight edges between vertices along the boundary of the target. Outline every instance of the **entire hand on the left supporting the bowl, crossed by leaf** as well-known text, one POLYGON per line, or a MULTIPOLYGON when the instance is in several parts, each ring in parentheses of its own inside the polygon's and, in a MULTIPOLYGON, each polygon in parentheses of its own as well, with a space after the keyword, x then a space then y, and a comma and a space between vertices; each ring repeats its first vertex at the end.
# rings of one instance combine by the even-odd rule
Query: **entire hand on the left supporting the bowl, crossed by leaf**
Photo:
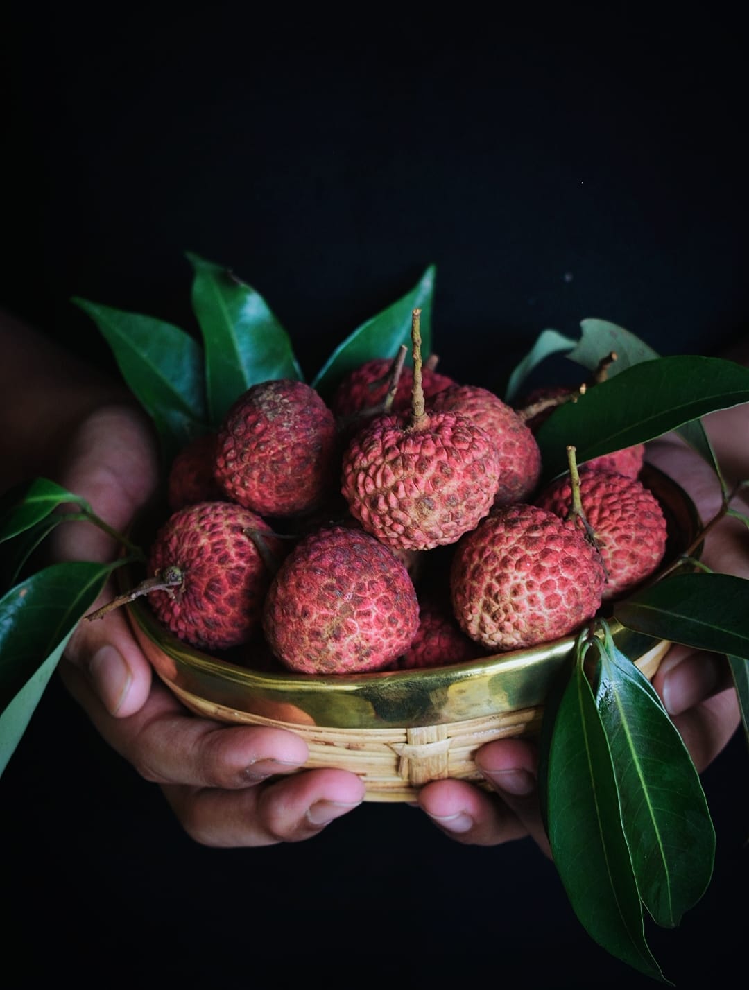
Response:
MULTIPOLYGON (((76 431, 56 480, 88 499, 110 526, 127 529, 157 486, 148 422, 129 407, 100 409, 76 431)), ((91 524, 55 531, 58 559, 109 560, 114 553, 113 542, 91 524)), ((105 589, 95 605, 112 596, 111 587, 105 589)), ((119 611, 80 623, 58 670, 103 739, 160 785, 195 841, 252 846, 309 839, 364 798, 364 784, 353 773, 295 773, 308 753, 293 733, 226 727, 187 712, 152 678, 119 611)))

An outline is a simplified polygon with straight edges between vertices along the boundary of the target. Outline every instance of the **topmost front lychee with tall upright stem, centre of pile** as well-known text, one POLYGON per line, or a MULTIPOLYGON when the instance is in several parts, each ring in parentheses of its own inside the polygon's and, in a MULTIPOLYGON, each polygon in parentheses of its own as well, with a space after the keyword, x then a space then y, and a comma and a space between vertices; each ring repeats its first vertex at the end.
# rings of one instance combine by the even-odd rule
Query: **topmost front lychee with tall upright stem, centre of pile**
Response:
POLYGON ((496 450, 458 413, 435 413, 423 430, 381 416, 343 457, 342 492, 368 533, 390 546, 426 550, 456 543, 490 508, 499 482, 496 450))

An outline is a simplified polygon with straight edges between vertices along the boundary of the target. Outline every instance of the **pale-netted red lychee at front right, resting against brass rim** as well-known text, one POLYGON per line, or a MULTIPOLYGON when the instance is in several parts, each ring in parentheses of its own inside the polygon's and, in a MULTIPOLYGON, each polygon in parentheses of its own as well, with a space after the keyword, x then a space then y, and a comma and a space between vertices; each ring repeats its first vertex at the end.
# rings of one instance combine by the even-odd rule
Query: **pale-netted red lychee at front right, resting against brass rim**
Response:
POLYGON ((457 545, 453 611, 472 640, 500 651, 548 643, 601 603, 600 554, 572 524, 532 505, 497 509, 457 545))

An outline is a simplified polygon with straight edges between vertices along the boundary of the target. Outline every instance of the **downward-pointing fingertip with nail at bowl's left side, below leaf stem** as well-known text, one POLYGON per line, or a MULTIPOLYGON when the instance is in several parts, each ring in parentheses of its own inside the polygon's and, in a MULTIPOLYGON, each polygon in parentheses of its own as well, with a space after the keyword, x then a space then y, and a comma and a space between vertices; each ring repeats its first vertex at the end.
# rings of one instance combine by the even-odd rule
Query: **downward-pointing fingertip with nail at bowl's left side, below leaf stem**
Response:
MULTIPOLYGON (((91 608, 103 605, 112 595, 112 587, 107 585, 91 608)), ((146 703, 152 667, 121 613, 110 612, 94 622, 81 620, 65 647, 64 658, 88 678, 110 715, 126 718, 146 703)))

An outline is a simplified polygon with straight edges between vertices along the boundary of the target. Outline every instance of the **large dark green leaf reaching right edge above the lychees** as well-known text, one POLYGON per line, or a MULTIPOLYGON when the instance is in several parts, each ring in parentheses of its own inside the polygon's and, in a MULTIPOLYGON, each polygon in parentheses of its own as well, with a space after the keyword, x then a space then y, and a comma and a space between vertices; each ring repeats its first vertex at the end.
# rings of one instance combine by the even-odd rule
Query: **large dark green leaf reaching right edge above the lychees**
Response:
POLYGON ((541 426, 542 484, 578 463, 645 443, 698 417, 749 402, 749 368, 721 357, 677 355, 634 364, 567 402, 541 426))

